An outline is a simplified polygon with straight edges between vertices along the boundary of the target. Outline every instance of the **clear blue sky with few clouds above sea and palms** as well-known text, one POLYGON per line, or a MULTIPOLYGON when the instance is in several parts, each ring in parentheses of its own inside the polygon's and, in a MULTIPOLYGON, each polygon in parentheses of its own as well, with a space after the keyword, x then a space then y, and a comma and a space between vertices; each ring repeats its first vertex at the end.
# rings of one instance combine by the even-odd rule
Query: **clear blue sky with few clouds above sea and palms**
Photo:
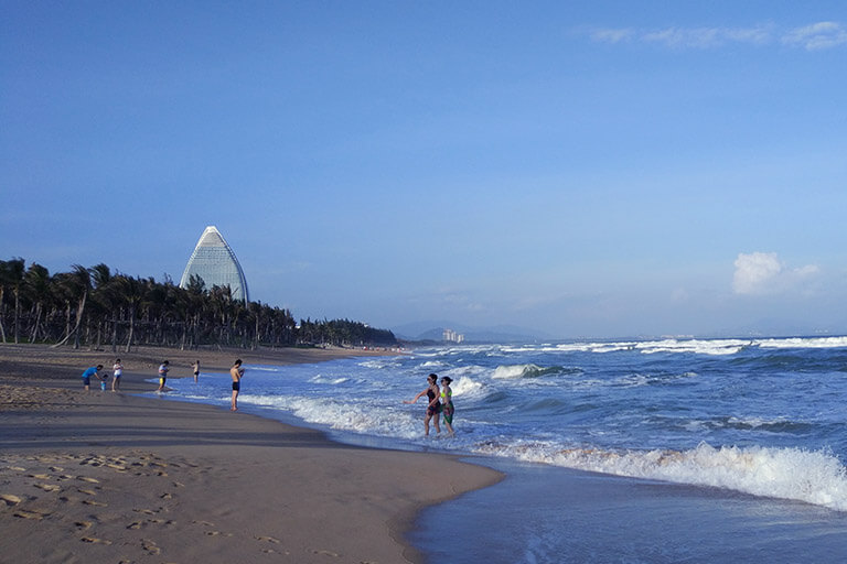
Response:
POLYGON ((0 256, 297 317, 847 333, 847 4, 0 7, 0 256))

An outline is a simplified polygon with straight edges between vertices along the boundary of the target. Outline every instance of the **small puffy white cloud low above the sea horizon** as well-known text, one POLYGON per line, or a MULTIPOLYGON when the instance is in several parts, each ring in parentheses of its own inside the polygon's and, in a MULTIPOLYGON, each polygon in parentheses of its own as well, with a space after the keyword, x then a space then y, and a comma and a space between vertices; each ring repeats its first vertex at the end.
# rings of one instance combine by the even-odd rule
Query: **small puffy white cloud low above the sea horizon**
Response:
POLYGON ((737 294, 776 294, 798 289, 800 284, 817 274, 821 269, 807 264, 789 269, 775 252, 738 254, 732 290, 737 294))

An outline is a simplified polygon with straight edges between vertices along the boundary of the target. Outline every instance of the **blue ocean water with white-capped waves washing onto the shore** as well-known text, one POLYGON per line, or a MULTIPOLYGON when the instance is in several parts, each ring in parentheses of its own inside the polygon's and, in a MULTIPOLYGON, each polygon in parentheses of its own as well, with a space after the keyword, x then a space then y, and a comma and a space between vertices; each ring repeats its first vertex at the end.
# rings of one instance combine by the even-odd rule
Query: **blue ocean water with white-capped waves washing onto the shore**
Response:
MULTIPOLYGON (((228 381, 228 375, 207 373, 197 384, 169 380, 174 389, 169 395, 226 408, 228 381)), ((790 540, 784 527, 806 543, 816 539, 819 561, 847 558, 847 337, 455 346, 319 365, 247 366, 239 408, 323 429, 350 443, 483 456, 506 471, 510 479, 502 486, 450 502, 452 512, 424 520, 414 542, 431 554, 443 549, 444 538, 455 538, 455 528, 467 533, 470 521, 474 538, 497 551, 487 562, 733 562, 743 546, 726 558, 718 546, 727 546, 728 533, 744 530, 738 523, 758 522, 755 531, 774 536, 750 549, 753 561, 763 546, 783 557, 771 561, 793 561, 783 545, 790 540), (442 436, 433 431, 424 437, 425 401, 403 403, 426 388, 430 372, 453 379, 455 437, 443 436, 443 430, 442 436), (603 556, 594 544, 576 550, 571 534, 597 514, 589 517, 586 509, 578 521, 560 521, 590 496, 571 491, 564 505, 544 499, 547 490, 539 492, 538 484, 559 494, 573 484, 586 491, 628 488, 630 496, 621 497, 628 501, 615 506, 614 517, 600 519, 580 539, 602 531, 601 521, 630 514, 636 522, 657 500, 673 516, 685 498, 680 507, 698 508, 699 519, 679 509, 678 518, 654 528, 661 531, 641 552, 633 539, 630 552, 615 542, 614 556, 603 556), (522 489, 529 486, 534 494, 522 489), (645 490, 650 495, 643 498, 633 494, 645 490), (500 505, 510 496, 522 501, 500 505), (630 502, 633 496, 639 501, 630 502), (504 544, 496 529, 479 525, 492 511, 515 519, 523 533, 512 530, 504 544), (708 530, 715 511, 722 520, 715 516, 712 536, 736 522, 722 531, 723 544, 710 547, 699 540, 700 550, 693 552, 686 552, 690 543, 683 543, 683 552, 660 546, 667 542, 662 534, 686 519, 694 519, 685 529, 688 538, 693 529, 708 530), (755 519, 738 517, 750 511, 755 519), (768 516, 779 518, 771 522, 768 516)), ((615 538, 626 535, 617 531, 615 538)), ((480 561, 479 553, 463 556, 458 544, 449 549, 453 562, 480 561)))

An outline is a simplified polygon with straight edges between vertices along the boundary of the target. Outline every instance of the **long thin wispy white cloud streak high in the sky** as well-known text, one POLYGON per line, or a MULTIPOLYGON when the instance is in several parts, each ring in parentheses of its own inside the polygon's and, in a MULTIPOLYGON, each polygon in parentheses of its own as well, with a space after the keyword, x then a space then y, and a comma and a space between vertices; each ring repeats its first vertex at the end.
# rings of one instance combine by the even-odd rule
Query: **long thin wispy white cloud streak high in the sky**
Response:
POLYGON ((783 45, 815 51, 847 44, 847 28, 839 22, 818 22, 787 31, 770 23, 749 28, 599 28, 589 31, 589 36, 600 43, 641 42, 673 48, 768 45, 781 41, 783 45))

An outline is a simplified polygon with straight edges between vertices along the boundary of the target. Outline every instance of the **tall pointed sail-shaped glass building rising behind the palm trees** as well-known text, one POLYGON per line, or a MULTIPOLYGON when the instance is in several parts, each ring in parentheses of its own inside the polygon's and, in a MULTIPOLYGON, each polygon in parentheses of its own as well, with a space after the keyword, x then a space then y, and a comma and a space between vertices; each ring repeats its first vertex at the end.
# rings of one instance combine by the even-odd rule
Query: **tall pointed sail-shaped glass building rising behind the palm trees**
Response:
POLYGON ((247 292, 247 279, 244 278, 242 265, 235 258, 233 249, 224 240, 224 236, 217 227, 206 227, 203 235, 191 253, 185 272, 182 273, 180 288, 187 288, 191 276, 203 279, 206 290, 212 286, 229 286, 233 299, 248 302, 250 295, 247 292))

